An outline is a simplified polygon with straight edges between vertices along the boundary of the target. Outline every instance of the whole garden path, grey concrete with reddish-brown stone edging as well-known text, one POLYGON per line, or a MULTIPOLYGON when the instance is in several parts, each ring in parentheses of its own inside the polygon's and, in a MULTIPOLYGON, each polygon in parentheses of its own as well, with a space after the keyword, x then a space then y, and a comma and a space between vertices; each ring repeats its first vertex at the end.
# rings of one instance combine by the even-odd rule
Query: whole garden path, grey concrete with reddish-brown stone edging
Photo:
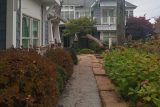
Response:
POLYGON ((80 55, 57 107, 127 107, 127 104, 106 76, 103 60, 94 55, 80 55))

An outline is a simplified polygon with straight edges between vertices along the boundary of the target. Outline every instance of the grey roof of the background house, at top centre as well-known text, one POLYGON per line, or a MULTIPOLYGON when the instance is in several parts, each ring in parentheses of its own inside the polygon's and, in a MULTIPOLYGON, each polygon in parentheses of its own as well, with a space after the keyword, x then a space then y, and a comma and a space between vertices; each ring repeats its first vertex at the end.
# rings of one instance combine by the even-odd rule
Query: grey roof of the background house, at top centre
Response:
POLYGON ((91 7, 91 5, 95 1, 96 0, 64 0, 63 5, 79 5, 79 6, 91 7))

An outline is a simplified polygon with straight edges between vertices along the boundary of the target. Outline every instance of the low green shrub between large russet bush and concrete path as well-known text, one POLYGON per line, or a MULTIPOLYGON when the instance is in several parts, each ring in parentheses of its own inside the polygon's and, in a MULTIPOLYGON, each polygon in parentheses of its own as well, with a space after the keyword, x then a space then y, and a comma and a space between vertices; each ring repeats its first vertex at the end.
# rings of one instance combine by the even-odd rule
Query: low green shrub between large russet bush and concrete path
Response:
POLYGON ((67 80, 67 73, 65 69, 62 68, 61 66, 57 66, 56 87, 59 94, 62 93, 66 80, 67 80))

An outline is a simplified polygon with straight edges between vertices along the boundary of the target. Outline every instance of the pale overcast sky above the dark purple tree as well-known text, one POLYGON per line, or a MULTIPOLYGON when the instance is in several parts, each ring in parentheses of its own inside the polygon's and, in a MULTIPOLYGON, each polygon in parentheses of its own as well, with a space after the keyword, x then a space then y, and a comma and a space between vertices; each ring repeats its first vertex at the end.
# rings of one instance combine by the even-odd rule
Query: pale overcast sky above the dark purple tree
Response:
POLYGON ((135 16, 144 16, 152 18, 160 16, 160 0, 126 0, 136 6, 137 9, 134 11, 135 16))

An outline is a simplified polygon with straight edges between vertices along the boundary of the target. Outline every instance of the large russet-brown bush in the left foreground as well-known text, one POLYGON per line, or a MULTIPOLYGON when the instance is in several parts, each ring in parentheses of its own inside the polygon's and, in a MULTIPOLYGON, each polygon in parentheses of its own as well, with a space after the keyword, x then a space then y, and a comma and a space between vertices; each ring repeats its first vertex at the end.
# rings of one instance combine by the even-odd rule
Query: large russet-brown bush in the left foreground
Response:
POLYGON ((36 52, 11 49, 0 54, 0 107, 53 107, 56 67, 36 52))

